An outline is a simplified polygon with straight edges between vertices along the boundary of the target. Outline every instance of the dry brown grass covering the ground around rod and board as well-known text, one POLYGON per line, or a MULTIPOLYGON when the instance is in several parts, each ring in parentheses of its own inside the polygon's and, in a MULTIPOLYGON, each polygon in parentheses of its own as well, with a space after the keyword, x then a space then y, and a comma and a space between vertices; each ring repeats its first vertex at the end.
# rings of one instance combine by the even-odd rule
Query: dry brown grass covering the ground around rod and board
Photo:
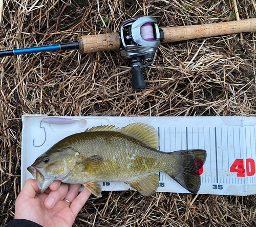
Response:
MULTIPOLYGON (((133 15, 154 15, 161 26, 246 19, 255 17, 255 6, 254 0, 0 0, 0 46, 115 32, 133 15)), ((0 225, 13 218, 19 193, 21 115, 255 116, 255 44, 254 33, 164 44, 139 92, 131 89, 131 75, 120 73, 126 63, 118 52, 1 59, 0 225)), ((74 226, 255 226, 255 207, 255 195, 104 192, 87 202, 74 226)))

